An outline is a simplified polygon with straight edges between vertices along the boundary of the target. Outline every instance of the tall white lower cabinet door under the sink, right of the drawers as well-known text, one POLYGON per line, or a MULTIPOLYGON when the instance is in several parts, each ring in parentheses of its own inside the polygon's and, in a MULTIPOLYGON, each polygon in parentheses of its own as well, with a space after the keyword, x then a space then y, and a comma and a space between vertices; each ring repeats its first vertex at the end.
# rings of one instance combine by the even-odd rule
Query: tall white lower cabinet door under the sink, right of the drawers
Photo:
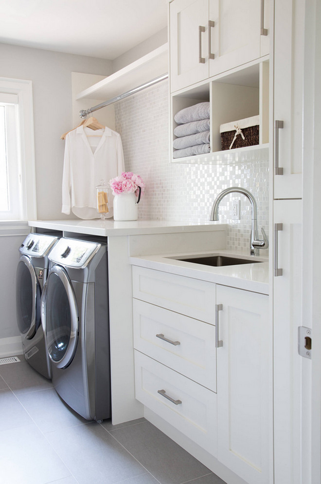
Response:
POLYGON ((216 286, 218 460, 249 484, 273 480, 268 296, 216 286), (220 306, 218 306, 220 308, 220 306))

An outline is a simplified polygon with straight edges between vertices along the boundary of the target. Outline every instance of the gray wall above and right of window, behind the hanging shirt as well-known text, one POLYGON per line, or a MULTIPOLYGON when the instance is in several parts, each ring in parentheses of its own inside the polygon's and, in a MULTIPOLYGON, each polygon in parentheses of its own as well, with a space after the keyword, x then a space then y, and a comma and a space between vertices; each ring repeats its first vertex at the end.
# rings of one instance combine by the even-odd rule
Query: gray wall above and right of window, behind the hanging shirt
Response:
POLYGON ((33 83, 36 194, 38 219, 61 214, 61 180, 65 143, 71 129, 71 72, 109 75, 111 61, 50 50, 0 44, 0 76, 33 83))

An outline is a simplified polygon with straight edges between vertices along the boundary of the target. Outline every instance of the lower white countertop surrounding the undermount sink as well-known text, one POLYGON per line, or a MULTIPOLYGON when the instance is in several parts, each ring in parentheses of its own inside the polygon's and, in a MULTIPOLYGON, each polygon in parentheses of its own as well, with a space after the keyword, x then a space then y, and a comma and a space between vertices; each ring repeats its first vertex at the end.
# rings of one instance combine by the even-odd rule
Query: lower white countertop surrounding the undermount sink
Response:
POLYGON ((250 260, 260 260, 260 263, 240 264, 234 266, 211 267, 171 259, 172 256, 191 256, 193 253, 184 254, 159 254, 130 257, 133 266, 147 267, 150 269, 170 272, 202 281, 245 289, 261 294, 268 294, 268 260, 265 257, 251 257, 231 250, 215 250, 214 252, 197 252, 197 255, 234 255, 247 257, 250 260))

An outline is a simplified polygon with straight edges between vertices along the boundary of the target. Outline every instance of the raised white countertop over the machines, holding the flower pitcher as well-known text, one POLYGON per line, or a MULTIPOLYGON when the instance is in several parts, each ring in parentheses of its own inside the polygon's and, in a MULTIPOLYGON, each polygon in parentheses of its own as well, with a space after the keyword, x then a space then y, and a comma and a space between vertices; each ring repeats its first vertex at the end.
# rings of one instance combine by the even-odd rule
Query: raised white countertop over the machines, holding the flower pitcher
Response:
POLYGON ((77 234, 99 235, 103 237, 136 234, 170 234, 178 232, 201 232, 209 230, 224 230, 227 225, 217 222, 180 223, 159 220, 30 220, 30 227, 74 232, 77 234))

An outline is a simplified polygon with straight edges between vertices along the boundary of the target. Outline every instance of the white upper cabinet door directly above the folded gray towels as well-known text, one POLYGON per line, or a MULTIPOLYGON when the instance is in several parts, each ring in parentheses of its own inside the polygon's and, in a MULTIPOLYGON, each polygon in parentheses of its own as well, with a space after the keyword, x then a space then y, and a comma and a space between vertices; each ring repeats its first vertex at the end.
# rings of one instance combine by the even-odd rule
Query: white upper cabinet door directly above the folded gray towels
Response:
POLYGON ((173 92, 208 78, 208 0, 175 0, 169 8, 173 92), (202 33, 199 33, 200 26, 205 29, 202 33))

